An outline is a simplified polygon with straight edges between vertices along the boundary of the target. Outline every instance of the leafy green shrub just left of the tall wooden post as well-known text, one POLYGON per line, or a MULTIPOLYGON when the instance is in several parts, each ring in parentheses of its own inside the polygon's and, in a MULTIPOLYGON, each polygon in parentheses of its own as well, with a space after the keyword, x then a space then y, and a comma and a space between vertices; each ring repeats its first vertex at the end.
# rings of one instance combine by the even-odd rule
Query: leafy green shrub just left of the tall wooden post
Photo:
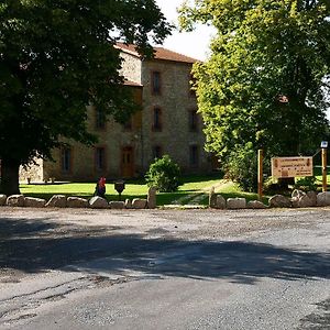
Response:
POLYGON ((238 183, 244 191, 256 191, 257 155, 251 143, 230 153, 226 165, 226 176, 238 183))

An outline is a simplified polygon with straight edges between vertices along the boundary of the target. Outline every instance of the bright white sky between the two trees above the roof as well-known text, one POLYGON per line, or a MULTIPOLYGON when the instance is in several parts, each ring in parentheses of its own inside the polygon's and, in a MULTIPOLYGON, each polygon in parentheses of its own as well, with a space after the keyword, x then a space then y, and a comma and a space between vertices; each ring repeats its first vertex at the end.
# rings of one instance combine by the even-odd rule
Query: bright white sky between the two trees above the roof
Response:
MULTIPOLYGON (((183 0, 156 0, 156 3, 166 19, 177 26, 178 14, 176 9, 183 3, 183 0)), ((211 28, 198 25, 194 32, 179 33, 174 31, 173 35, 168 36, 162 46, 193 58, 205 61, 211 35, 211 28)))

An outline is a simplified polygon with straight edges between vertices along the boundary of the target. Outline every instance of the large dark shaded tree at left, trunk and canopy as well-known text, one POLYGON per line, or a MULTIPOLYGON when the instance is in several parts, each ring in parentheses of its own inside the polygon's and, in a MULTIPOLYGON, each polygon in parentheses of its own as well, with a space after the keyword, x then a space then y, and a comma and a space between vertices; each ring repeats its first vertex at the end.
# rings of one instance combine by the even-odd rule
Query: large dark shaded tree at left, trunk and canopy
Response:
POLYGON ((118 40, 152 55, 172 26, 154 0, 4 0, 0 3, 2 191, 19 193, 19 166, 51 158, 61 138, 94 143, 87 105, 125 121, 118 40))

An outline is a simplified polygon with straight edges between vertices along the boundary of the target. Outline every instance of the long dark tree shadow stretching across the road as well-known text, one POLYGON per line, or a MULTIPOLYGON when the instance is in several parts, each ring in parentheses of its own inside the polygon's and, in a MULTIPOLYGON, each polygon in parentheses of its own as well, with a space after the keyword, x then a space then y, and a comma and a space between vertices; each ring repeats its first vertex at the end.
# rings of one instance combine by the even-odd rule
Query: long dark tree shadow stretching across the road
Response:
POLYGON ((329 253, 245 241, 151 239, 116 233, 118 227, 105 230, 81 226, 63 231, 62 227, 47 219, 33 222, 0 219, 0 268, 38 273, 84 262, 90 272, 134 271, 145 276, 227 278, 244 284, 262 277, 290 280, 330 277, 329 253), (102 257, 108 258, 98 261, 102 257))

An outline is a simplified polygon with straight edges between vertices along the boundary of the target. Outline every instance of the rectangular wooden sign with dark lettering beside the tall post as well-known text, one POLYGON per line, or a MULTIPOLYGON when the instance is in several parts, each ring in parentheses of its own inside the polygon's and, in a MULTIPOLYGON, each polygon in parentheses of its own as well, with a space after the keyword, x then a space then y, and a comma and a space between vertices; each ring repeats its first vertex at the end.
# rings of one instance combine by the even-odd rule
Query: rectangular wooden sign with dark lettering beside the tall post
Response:
POLYGON ((277 178, 312 176, 312 157, 272 158, 272 176, 277 178))

